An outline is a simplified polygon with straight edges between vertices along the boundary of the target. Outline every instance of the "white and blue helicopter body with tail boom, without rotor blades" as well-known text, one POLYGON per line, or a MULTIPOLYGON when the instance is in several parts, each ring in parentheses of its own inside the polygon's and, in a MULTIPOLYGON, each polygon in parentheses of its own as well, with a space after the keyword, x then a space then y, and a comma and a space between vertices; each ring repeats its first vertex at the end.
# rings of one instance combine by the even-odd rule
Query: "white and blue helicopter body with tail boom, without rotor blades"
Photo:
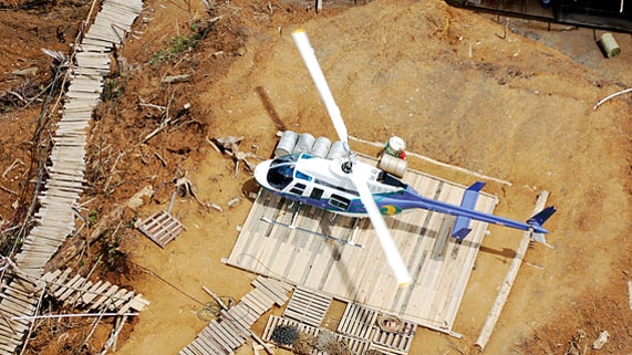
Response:
MULTIPOLYGON (((305 153, 294 153, 260 163, 255 170, 255 178, 263 188, 290 200, 342 216, 367 217, 350 175, 342 168, 343 163, 314 157, 305 153)), ((394 216, 422 208, 520 230, 532 229, 538 233, 548 232, 538 225, 423 197, 391 174, 362 161, 356 161, 353 169, 355 174, 365 177, 373 199, 384 216, 394 216)))

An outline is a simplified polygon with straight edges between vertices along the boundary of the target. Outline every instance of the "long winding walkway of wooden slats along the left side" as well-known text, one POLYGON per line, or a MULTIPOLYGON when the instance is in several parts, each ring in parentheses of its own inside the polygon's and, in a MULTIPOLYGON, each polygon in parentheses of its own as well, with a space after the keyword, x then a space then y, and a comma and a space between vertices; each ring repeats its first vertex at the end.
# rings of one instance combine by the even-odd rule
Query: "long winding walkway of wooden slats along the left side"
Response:
POLYGON ((45 288, 35 285, 45 263, 74 232, 73 205, 85 182, 85 145, 94 107, 100 103, 110 52, 123 42, 143 8, 142 0, 105 0, 70 64, 70 86, 63 117, 56 124, 49 179, 38 196, 37 227, 15 255, 17 276, 2 283, 0 301, 0 354, 13 354, 31 328, 45 288), (35 281, 33 281, 35 280, 35 281))

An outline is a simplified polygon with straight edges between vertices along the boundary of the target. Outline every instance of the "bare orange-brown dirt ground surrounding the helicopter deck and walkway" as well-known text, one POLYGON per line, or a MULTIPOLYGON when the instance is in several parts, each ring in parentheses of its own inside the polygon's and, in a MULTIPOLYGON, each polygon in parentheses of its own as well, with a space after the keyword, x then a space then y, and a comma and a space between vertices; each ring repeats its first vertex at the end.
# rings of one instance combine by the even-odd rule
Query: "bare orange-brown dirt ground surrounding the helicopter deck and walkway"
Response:
MULTIPOLYGON (((94 276, 152 302, 124 328, 117 352, 175 354, 206 325, 198 311, 211 300, 203 285, 235 299, 250 290, 253 275, 220 260, 252 203, 245 195, 251 177, 245 169, 236 177, 234 161, 207 137, 244 136, 241 149, 266 158, 279 129, 334 138, 290 38, 302 27, 353 136, 398 135, 411 152, 510 181, 486 188, 499 196, 501 216, 525 219, 538 191, 550 191, 559 208, 547 225, 555 249, 527 253, 533 267, 520 270, 486 354, 632 354, 632 101, 620 96, 592 108, 630 85, 631 38, 617 34, 623 52, 607 60, 592 31, 511 20, 514 31, 505 33, 505 21, 438 0, 324 1, 318 14, 307 3, 217 1, 207 12, 197 2, 148 1, 137 32, 116 52, 121 65, 91 128, 82 212, 93 223, 145 186, 155 194, 69 265, 86 274, 96 264, 94 276), (187 81, 162 82, 183 74, 187 81), (191 108, 179 112, 186 103, 191 108), (165 116, 175 117, 167 129, 139 144, 165 116), (174 178, 183 176, 200 202, 175 200, 173 213, 187 231, 160 249, 132 225, 167 209, 174 178), (229 207, 235 197, 240 202, 229 207), (609 342, 592 349, 601 331, 609 342)), ((91 4, 0 4, 8 8, 0 11, 0 216, 9 253, 32 198, 40 113, 55 97, 49 105, 45 92, 35 97, 52 82, 40 49, 70 53, 91 4), (14 72, 29 67, 37 73, 14 72)), ((376 153, 360 143, 353 148, 376 153)), ((476 179, 415 158, 408 164, 464 185, 476 179)), ((87 227, 74 238, 84 238, 87 227)), ((463 338, 422 330, 411 354, 478 353, 473 344, 521 236, 489 229, 454 328, 463 338)), ((25 353, 99 353, 111 327, 102 322, 85 342, 92 320, 38 323, 25 353)))

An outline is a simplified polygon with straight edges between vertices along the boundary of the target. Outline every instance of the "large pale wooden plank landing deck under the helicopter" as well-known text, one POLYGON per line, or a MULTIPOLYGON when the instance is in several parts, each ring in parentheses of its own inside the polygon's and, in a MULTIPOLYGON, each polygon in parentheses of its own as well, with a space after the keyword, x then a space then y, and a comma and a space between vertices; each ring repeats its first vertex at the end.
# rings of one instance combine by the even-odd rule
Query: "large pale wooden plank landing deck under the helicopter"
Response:
MULTIPOLYGON (((424 196, 455 205, 460 203, 466 188, 413 170, 403 179, 424 196)), ((493 212, 496 202, 496 197, 481 194, 476 209, 493 212)), ((296 218, 301 229, 343 240, 354 236, 364 248, 261 220, 266 217, 290 225, 296 209, 296 203, 261 191, 227 263, 452 332, 487 223, 473 221, 472 233, 458 246, 448 236, 454 217, 415 210, 386 218, 413 276, 413 282, 401 289, 367 219, 336 216, 331 221, 331 213, 308 206, 296 218)))

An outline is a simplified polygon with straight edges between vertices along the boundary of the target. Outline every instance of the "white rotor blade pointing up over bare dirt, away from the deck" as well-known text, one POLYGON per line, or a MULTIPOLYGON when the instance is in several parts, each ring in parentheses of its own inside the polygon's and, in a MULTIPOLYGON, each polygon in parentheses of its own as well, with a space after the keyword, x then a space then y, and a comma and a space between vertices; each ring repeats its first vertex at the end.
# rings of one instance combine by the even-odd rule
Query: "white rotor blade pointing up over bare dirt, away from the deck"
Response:
POLYGON ((308 71, 310 72, 312 80, 314 81, 318 92, 322 97, 324 106, 327 107, 327 112, 329 113, 329 116, 333 122, 333 127, 335 128, 335 132, 338 133, 340 140, 349 145, 349 135, 346 133, 346 126, 344 125, 344 121, 342 121, 340 108, 338 108, 338 105, 333 100, 333 95, 331 94, 331 90, 327 84, 327 80, 324 79, 324 74, 322 73, 320 64, 318 63, 314 49, 312 48, 310 40, 308 39, 305 30, 303 29, 296 30, 294 32, 292 32, 292 38, 294 39, 294 43, 297 44, 297 48, 299 49, 299 52, 301 53, 301 56, 303 58, 303 61, 308 66, 308 71))

